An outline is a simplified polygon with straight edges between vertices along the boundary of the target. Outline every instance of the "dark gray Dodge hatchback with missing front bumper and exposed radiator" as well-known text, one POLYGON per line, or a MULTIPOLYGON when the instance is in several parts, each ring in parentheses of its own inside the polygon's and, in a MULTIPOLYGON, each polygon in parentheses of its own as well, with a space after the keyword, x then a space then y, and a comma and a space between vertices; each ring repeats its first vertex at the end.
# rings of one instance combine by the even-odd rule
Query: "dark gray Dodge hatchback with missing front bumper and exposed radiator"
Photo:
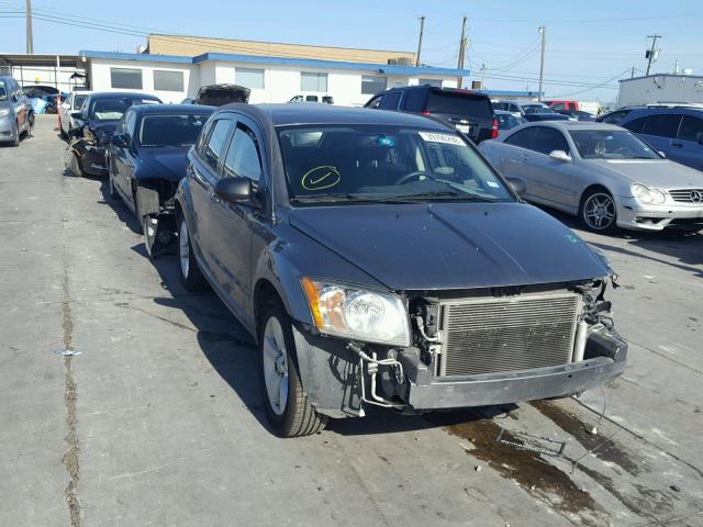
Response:
POLYGON ((230 104, 176 195, 181 278, 255 336, 283 437, 599 386, 627 355, 613 270, 521 190, 422 116, 230 104))

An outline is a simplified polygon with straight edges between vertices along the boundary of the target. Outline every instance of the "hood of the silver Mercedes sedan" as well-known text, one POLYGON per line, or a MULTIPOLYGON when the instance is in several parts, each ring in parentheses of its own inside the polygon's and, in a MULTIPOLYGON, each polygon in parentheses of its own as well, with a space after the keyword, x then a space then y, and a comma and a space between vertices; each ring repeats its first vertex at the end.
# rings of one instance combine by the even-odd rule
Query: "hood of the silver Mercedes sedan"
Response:
POLYGON ((669 159, 587 159, 584 162, 624 176, 633 183, 661 189, 703 188, 703 172, 669 159))

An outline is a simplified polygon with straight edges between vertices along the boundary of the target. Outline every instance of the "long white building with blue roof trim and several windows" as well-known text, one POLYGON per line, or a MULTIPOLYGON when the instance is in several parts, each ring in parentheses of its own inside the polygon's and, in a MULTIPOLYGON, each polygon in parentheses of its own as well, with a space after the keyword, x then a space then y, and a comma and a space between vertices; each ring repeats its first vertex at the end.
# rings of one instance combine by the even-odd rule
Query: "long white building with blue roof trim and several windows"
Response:
POLYGON ((287 102, 297 94, 332 96, 335 104, 364 104, 387 88, 433 83, 457 86, 468 70, 364 64, 309 58, 205 53, 196 57, 80 52, 94 91, 142 91, 164 102, 192 98, 201 86, 236 83, 249 102, 287 102))

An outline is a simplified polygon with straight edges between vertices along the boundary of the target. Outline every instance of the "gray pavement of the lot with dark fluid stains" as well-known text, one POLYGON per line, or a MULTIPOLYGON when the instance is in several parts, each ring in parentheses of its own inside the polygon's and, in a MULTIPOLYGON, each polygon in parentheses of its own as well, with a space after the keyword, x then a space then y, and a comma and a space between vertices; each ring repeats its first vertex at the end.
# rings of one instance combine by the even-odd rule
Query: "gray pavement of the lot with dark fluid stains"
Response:
POLYGON ((145 257, 104 180, 63 173, 54 127, 0 147, 0 525, 703 525, 703 235, 557 214, 620 274, 629 363, 603 390, 279 439, 250 337, 145 257))

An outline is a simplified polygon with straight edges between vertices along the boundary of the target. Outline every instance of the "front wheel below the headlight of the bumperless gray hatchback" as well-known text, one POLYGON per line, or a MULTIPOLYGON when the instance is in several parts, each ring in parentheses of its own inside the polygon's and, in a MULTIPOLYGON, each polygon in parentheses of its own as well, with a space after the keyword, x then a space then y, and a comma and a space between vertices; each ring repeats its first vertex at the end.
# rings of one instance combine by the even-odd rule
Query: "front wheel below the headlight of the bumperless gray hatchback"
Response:
POLYGON ((303 391, 291 321, 280 301, 266 304, 259 322, 261 396, 274 433, 279 437, 316 434, 327 417, 315 411, 303 391))

